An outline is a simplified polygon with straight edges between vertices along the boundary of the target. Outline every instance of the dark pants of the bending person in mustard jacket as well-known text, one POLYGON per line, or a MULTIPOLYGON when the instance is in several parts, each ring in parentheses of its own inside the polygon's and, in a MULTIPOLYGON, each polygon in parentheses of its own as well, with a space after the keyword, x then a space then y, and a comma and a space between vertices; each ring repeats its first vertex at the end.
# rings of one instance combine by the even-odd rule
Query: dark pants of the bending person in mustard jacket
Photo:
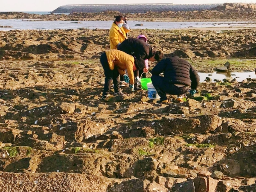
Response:
POLYGON ((119 87, 119 72, 117 68, 115 67, 114 70, 111 70, 108 65, 108 58, 106 53, 104 52, 100 56, 100 62, 102 64, 102 67, 104 69, 104 74, 105 74, 105 84, 104 84, 104 90, 103 90, 103 96, 107 96, 107 92, 109 91, 112 81, 114 84, 114 90, 115 92, 118 92, 120 90, 119 87))

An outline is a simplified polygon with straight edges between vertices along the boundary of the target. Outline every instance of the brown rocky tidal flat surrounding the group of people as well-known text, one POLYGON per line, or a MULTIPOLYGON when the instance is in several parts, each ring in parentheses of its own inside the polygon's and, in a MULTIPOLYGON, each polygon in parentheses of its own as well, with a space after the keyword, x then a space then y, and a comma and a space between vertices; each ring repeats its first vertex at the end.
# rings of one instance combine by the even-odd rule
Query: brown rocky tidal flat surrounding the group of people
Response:
MULTIPOLYGON (((140 33, 200 71, 255 57, 255 29, 140 33)), ((128 87, 103 102, 108 48, 107 30, 0 32, 2 191, 256 191, 256 79, 201 83, 183 103, 128 87)))

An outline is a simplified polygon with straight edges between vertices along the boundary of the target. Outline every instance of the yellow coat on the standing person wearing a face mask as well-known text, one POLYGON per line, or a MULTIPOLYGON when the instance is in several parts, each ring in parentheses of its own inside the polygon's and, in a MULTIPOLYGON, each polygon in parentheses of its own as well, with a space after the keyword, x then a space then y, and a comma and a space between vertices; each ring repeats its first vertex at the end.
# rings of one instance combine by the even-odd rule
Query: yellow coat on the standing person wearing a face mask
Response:
POLYGON ((110 49, 117 49, 117 45, 127 39, 126 34, 131 30, 125 29, 125 27, 119 28, 116 23, 113 23, 109 30, 110 49))

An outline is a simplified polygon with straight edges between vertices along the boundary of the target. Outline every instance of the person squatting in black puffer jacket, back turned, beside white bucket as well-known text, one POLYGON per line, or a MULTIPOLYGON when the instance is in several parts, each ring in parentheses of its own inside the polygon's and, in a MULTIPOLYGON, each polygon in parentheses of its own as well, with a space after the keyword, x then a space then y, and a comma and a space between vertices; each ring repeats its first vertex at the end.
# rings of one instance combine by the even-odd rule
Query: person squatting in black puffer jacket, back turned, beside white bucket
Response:
POLYGON ((157 90, 160 100, 157 103, 168 102, 166 93, 183 95, 191 87, 190 94, 194 95, 200 78, 192 65, 181 58, 170 57, 162 59, 151 71, 151 81, 157 90), (163 77, 159 76, 163 73, 163 77))

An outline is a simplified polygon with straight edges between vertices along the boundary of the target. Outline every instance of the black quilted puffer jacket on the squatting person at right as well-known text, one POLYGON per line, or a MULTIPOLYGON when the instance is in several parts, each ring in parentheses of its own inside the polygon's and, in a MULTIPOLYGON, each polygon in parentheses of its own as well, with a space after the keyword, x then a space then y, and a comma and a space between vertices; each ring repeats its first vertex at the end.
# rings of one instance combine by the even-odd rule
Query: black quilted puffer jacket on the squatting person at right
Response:
POLYGON ((164 74, 165 82, 183 84, 197 89, 200 78, 192 65, 181 58, 170 57, 162 59, 151 71, 152 75, 164 74))

